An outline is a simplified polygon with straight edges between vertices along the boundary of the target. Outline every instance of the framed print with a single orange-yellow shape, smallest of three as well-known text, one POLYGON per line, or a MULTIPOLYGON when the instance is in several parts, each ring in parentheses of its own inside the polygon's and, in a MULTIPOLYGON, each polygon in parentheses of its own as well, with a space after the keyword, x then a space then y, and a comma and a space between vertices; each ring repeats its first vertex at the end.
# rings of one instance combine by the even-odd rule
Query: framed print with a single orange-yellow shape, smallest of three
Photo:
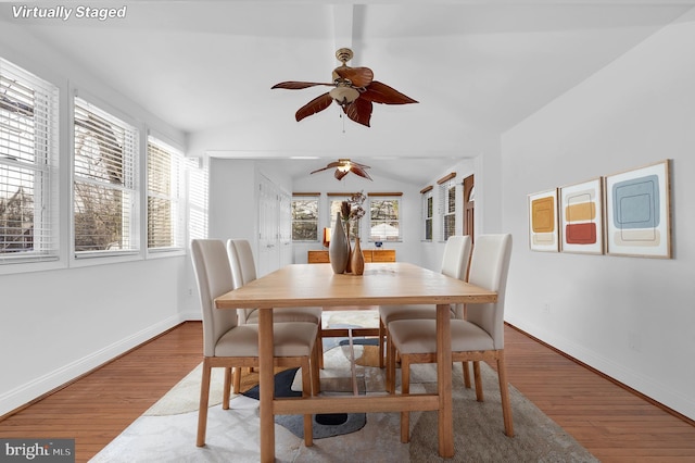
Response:
POLYGON ((529 195, 529 246, 532 251, 558 251, 557 188, 529 195))

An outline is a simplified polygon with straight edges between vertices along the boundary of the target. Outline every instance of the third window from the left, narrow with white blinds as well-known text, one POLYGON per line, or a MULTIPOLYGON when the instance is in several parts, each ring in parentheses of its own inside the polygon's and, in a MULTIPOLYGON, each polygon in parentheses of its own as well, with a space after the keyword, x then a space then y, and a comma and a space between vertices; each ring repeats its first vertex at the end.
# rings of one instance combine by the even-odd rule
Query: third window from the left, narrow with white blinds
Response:
POLYGON ((181 160, 175 148, 148 138, 148 249, 180 249, 184 242, 181 214, 181 160))

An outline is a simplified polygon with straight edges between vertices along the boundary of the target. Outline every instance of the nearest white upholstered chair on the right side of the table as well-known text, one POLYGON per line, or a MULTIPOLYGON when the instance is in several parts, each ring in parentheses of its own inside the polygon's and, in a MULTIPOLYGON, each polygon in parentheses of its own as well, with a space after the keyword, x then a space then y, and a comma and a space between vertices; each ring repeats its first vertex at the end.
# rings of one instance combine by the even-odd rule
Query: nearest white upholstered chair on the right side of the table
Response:
MULTIPOLYGON (((469 283, 497 291, 497 302, 467 304, 466 320, 451 321, 452 361, 473 362, 476 396, 483 400, 480 361, 496 361, 502 414, 507 436, 514 436, 511 408, 504 362, 504 299, 511 255, 511 235, 482 235, 476 239, 469 283)), ((395 353, 401 355, 401 392, 409 392, 410 364, 437 362, 437 321, 399 320, 389 324, 391 342, 387 361, 395 376, 395 353)), ((389 392, 395 392, 395 381, 389 392)), ((408 412, 401 414, 401 440, 409 440, 408 412)))

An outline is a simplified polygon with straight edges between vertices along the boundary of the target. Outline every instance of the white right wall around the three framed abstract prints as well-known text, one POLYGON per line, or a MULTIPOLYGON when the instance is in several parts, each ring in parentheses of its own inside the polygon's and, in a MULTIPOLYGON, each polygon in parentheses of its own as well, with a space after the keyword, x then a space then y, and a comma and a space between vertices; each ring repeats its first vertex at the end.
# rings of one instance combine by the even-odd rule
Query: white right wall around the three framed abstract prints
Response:
POLYGON ((695 418, 695 11, 502 137, 506 318, 695 418), (527 195, 672 159, 671 260, 531 252, 527 195), (544 308, 549 308, 545 311, 544 308))

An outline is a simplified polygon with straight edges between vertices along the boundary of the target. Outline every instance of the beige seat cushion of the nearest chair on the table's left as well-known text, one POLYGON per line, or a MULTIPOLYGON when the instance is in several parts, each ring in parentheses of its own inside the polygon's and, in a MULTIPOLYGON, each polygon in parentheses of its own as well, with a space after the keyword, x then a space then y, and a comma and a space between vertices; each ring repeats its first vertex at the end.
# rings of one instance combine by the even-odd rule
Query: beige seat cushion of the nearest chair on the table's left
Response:
MULTIPOLYGON (((317 329, 308 322, 274 323, 274 355, 309 355, 317 329)), ((225 333, 215 345, 215 356, 258 356, 258 325, 239 325, 225 333)))

